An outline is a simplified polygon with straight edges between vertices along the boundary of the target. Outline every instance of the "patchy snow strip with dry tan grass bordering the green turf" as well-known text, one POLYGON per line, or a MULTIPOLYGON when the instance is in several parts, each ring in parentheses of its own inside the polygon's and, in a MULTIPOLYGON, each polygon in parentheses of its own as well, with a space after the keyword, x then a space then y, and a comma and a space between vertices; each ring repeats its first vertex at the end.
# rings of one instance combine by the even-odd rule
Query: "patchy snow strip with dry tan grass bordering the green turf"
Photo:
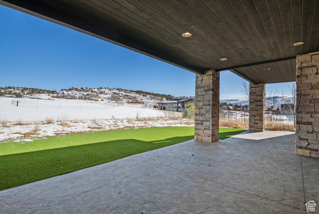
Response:
MULTIPOLYGON (((93 119, 93 120, 64 120, 43 122, 11 122, 6 127, 0 127, 0 143, 26 137, 45 137, 82 132, 105 131, 112 129, 128 129, 151 126, 194 126, 186 120, 171 121, 164 118, 141 119, 93 119)), ((23 139, 21 140, 23 141, 23 139)))

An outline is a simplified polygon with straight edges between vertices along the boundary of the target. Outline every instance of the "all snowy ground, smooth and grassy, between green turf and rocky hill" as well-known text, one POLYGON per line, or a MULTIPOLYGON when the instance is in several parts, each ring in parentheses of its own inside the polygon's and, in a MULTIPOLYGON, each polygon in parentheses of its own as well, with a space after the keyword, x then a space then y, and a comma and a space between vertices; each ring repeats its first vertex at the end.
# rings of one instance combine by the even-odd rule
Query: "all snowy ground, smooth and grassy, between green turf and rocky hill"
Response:
MULTIPOLYGON (((17 99, 13 100, 16 102, 17 99)), ((103 105, 83 100, 67 100, 68 103, 63 99, 26 99, 26 102, 23 100, 20 99, 18 106, 15 106, 11 104, 12 98, 0 98, 0 143, 4 143, 3 140, 26 137, 194 124, 181 118, 169 120, 165 116, 167 113, 152 109, 152 104, 147 103, 144 108, 138 108, 103 105)), ((23 139, 19 141, 23 142, 23 139)))

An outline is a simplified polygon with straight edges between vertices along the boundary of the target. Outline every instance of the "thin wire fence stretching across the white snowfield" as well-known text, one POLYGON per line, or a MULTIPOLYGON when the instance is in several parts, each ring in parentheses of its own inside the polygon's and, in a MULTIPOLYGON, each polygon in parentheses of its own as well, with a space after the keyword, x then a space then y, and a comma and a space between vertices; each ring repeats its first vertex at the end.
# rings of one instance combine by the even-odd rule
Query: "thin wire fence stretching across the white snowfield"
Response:
POLYGON ((123 106, 123 104, 102 105, 102 104, 81 103, 78 100, 77 101, 72 100, 72 101, 65 102, 65 100, 54 101, 54 100, 35 100, 35 99, 22 98, 22 99, 11 100, 11 104, 17 107, 63 109, 63 110, 107 110, 107 109, 123 106))

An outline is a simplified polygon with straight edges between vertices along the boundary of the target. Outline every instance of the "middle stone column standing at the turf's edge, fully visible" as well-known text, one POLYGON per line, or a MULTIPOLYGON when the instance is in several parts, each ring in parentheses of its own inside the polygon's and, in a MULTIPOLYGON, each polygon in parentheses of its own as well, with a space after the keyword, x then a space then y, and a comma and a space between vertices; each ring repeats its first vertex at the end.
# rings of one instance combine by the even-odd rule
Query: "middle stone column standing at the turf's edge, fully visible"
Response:
POLYGON ((196 74, 195 140, 215 142, 219 139, 219 72, 206 70, 196 74))

